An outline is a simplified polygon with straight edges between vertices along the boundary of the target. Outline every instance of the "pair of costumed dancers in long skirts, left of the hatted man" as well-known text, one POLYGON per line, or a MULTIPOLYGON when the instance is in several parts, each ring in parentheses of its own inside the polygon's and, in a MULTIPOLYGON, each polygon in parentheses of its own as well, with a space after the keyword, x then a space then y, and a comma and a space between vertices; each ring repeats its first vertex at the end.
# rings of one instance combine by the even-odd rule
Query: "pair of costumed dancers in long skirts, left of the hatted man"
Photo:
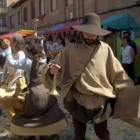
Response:
MULTIPOLYGON (((8 71, 3 69, 3 74, 8 76, 3 79, 0 88, 0 106, 8 111, 11 131, 23 136, 61 132, 67 126, 65 114, 59 108, 56 97, 47 94, 49 89, 40 81, 41 71, 46 65, 40 40, 30 38, 26 41, 15 34, 10 41, 4 39, 2 45, 5 45, 1 52, 6 57, 4 68, 8 65, 8 71)), ((40 139, 43 139, 42 136, 40 139)))

